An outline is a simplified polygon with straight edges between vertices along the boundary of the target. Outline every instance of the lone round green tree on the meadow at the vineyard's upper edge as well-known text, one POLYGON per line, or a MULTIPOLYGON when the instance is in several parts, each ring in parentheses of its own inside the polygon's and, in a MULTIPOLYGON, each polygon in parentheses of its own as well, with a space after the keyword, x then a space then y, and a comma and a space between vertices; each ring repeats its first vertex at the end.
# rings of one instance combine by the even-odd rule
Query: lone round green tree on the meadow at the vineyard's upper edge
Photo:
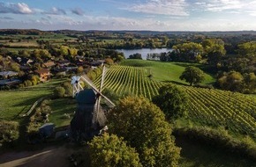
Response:
POLYGON ((185 80, 185 82, 192 85, 192 84, 200 84, 205 79, 204 75, 205 74, 201 69, 197 67, 189 66, 184 69, 184 72, 182 73, 181 76, 179 76, 179 78, 181 80, 185 80))

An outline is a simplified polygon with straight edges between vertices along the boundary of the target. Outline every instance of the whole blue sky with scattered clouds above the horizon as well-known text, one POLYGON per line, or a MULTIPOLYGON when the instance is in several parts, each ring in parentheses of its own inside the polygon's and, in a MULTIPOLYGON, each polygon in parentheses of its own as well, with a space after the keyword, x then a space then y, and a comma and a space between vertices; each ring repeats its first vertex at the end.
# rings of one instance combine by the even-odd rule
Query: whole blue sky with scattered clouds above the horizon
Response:
POLYGON ((256 0, 0 0, 0 29, 256 31, 256 0))

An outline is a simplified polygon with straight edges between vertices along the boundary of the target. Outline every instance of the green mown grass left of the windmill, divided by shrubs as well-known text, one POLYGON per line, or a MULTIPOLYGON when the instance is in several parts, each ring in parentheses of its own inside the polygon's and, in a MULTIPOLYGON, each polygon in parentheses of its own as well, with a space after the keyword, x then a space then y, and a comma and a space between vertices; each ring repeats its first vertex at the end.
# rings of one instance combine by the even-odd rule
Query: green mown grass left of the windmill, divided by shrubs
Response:
MULTIPOLYGON (((23 122, 22 117, 39 98, 47 98, 53 89, 68 79, 52 79, 45 84, 38 84, 15 91, 0 91, 0 119, 23 122)), ((52 99, 49 101, 52 113, 49 121, 56 127, 69 125, 70 119, 64 119, 64 113, 72 114, 76 108, 75 100, 70 98, 52 99)))

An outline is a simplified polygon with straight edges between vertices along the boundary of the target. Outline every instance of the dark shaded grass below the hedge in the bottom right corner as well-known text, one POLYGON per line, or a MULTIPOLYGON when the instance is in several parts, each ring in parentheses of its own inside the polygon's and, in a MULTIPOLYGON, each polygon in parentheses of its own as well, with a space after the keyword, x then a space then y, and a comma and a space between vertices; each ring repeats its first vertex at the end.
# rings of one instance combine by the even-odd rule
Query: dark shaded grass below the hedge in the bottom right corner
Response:
POLYGON ((236 152, 207 145, 207 143, 175 134, 176 144, 181 147, 180 167, 253 167, 255 161, 236 152))

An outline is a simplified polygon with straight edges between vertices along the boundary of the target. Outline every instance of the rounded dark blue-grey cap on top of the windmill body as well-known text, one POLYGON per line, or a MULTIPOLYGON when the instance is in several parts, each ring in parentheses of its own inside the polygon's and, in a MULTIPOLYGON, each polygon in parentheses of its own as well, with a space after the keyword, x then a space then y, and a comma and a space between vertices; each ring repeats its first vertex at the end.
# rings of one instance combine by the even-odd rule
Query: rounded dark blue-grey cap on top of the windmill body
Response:
POLYGON ((76 96, 76 100, 79 104, 94 104, 96 95, 92 89, 85 89, 83 91, 79 91, 76 96))

